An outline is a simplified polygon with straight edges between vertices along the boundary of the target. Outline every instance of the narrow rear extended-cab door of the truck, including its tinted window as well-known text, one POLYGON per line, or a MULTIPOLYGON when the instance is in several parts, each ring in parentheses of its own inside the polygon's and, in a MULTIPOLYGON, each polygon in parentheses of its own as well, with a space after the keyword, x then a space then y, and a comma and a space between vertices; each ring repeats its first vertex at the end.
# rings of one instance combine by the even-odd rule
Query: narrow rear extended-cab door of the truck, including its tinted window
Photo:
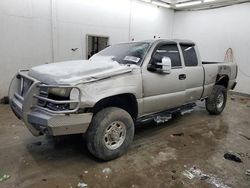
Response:
POLYGON ((203 92, 204 69, 198 49, 193 43, 180 43, 182 58, 185 65, 185 103, 200 99, 203 92))

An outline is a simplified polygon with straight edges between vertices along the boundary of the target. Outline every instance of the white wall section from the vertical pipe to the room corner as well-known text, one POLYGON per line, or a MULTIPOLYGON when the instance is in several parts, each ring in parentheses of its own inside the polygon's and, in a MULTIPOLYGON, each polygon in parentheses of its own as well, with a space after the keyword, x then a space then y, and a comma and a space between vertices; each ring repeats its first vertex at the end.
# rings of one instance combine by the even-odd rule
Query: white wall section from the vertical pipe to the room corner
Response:
POLYGON ((171 37, 174 12, 141 1, 57 0, 55 7, 56 61, 86 58, 86 34, 109 36, 110 44, 171 37))

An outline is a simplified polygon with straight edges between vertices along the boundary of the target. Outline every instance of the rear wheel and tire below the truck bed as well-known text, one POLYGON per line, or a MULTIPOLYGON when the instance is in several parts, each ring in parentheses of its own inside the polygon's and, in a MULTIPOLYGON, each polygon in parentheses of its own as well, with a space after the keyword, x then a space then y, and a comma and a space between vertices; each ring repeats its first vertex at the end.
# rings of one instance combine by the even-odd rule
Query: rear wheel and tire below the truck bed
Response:
POLYGON ((206 99, 206 109, 212 115, 219 115, 224 110, 227 102, 227 89, 215 85, 211 95, 206 99))

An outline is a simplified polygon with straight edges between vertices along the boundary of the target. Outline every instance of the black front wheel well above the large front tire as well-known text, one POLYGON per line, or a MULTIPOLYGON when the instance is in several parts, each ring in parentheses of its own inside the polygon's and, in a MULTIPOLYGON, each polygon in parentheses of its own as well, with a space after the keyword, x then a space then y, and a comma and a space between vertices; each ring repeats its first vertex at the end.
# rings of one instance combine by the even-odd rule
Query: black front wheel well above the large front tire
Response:
POLYGON ((127 111, 133 120, 136 120, 138 115, 138 104, 135 96, 130 93, 114 95, 98 101, 92 109, 92 112, 96 114, 100 110, 107 107, 118 107, 127 111))

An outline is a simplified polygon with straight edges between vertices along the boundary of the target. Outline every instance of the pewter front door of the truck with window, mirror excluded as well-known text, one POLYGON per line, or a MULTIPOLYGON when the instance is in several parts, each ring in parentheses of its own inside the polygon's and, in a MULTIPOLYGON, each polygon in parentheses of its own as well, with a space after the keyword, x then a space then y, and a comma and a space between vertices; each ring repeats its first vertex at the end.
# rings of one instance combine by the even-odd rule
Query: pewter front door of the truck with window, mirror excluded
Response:
POLYGON ((143 114, 160 112, 185 103, 185 69, 176 43, 157 45, 147 67, 142 70, 143 114), (163 57, 171 59, 170 73, 154 71, 163 57))

